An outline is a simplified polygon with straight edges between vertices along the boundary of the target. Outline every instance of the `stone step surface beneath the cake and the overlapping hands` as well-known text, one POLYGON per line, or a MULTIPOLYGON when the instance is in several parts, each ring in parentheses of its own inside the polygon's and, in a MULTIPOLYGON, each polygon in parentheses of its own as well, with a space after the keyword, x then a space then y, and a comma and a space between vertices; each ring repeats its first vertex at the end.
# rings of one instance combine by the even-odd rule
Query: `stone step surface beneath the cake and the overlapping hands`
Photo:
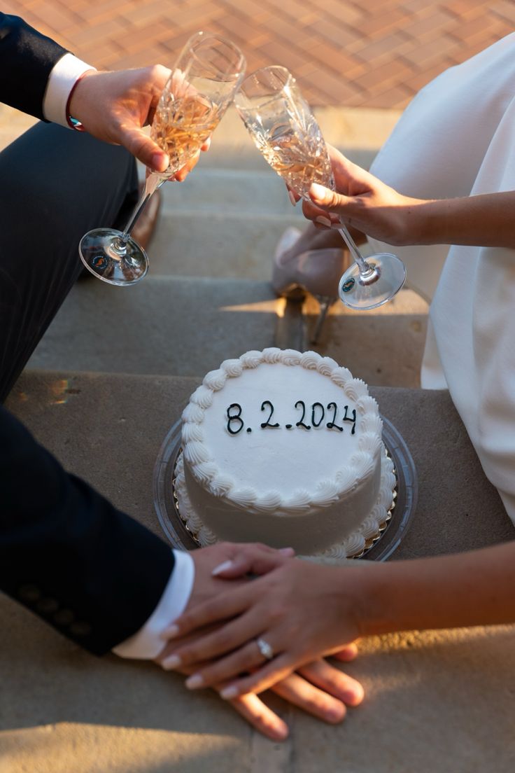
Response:
MULTIPOLYGON (((154 462, 197 384, 25 373, 8 407, 69 469, 159 533, 154 462)), ((372 392, 418 470, 418 509, 395 558, 513 539, 449 396, 372 392)), ((93 658, 14 601, 2 597, 0 607, 0 773, 513 771, 510 627, 371 638, 346 666, 364 683, 363 705, 330 727, 276 701, 291 734, 273 744, 215 696, 188 693, 180 677, 114 656, 93 658)))

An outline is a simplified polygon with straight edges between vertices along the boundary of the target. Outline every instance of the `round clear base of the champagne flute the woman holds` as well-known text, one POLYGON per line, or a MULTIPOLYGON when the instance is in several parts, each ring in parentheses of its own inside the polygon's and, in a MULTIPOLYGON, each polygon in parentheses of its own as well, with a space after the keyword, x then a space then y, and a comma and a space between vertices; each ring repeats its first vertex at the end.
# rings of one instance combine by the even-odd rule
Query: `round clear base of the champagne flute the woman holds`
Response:
POLYGON ((361 274, 354 263, 338 285, 338 295, 350 308, 378 308, 390 301, 405 283, 406 269, 396 255, 381 252, 366 257, 365 261, 370 271, 361 274))

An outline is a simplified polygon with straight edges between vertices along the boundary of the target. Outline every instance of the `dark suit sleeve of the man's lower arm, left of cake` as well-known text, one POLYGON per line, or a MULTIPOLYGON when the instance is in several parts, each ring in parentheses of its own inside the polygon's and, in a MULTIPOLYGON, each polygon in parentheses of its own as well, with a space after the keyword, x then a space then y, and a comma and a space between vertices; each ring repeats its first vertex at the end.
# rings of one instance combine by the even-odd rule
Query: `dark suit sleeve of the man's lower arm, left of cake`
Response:
POLYGON ((69 475, 0 406, 0 589, 97 655, 154 611, 163 540, 69 475))

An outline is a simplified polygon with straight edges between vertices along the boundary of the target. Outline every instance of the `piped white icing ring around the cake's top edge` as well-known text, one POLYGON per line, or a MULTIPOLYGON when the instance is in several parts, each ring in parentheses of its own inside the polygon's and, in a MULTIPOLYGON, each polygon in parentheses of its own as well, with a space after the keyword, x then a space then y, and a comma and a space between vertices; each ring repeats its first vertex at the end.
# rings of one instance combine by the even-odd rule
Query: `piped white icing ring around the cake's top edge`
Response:
POLYGON ((339 366, 330 357, 320 356, 317 352, 296 352, 276 347, 263 349, 262 352, 249 351, 238 359, 225 359, 219 369, 207 373, 183 411, 182 424, 182 451, 198 483, 223 502, 242 507, 252 514, 280 510, 280 515, 287 516, 333 505, 370 477, 382 445, 378 404, 369 395, 364 381, 355 379, 350 370, 339 366), (356 425, 359 434, 357 451, 334 478, 318 482, 311 492, 299 488, 284 497, 276 490, 258 492, 252 487, 238 488, 231 476, 220 470, 204 443, 202 423, 205 411, 212 405, 213 394, 222 390, 227 380, 238 378, 245 369, 255 369, 262 363, 282 363, 317 370, 340 386, 344 395, 356 405, 359 417, 356 425))

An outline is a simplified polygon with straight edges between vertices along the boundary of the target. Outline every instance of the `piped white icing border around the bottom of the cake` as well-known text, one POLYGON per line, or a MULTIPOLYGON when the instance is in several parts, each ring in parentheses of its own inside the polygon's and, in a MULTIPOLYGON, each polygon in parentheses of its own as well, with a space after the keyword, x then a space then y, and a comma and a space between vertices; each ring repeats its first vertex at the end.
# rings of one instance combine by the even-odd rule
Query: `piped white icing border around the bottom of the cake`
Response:
MULTIPOLYGON (((395 502, 395 478, 394 463, 387 455, 383 446, 381 453, 381 486, 378 499, 368 516, 364 519, 361 526, 356 531, 349 534, 345 540, 335 543, 320 553, 315 553, 316 557, 341 559, 360 556, 370 540, 377 540, 380 536, 380 528, 388 522, 389 511, 395 502)), ((201 547, 208 547, 219 541, 219 538, 212 533, 198 516, 195 508, 192 506, 188 496, 184 473, 184 459, 182 454, 178 455, 174 468, 173 481, 174 495, 177 500, 177 511, 182 522, 189 532, 195 537, 201 547)))

